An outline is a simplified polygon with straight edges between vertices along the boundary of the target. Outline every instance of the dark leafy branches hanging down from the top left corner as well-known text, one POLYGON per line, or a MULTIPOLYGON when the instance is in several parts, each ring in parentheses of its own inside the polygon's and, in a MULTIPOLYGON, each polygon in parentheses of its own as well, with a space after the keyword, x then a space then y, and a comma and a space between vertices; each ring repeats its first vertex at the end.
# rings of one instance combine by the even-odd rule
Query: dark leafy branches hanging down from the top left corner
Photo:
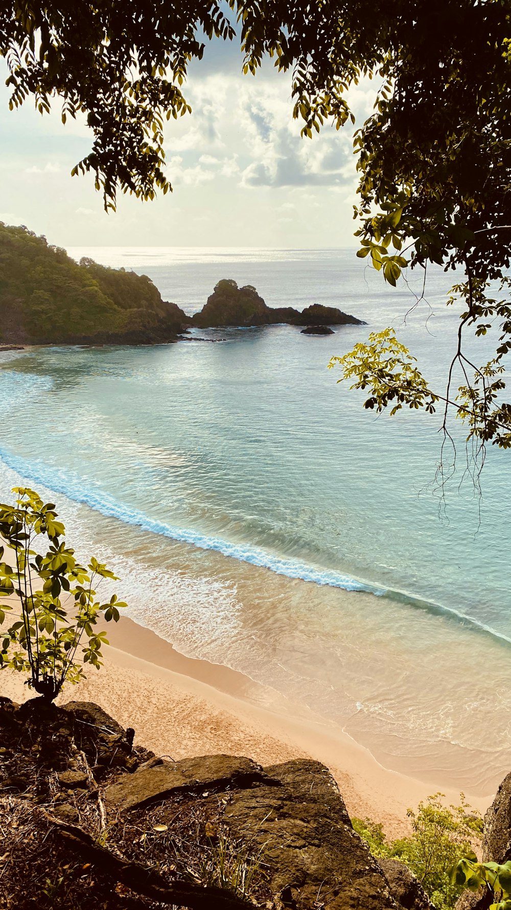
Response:
POLYGON ((207 37, 233 37, 217 0, 7 0, 0 11, 0 55, 10 70, 10 106, 35 98, 41 114, 62 100, 62 119, 85 114, 92 151, 72 173, 91 171, 105 209, 117 187, 152 199, 168 191, 164 117, 191 108, 181 92, 186 67, 207 37))

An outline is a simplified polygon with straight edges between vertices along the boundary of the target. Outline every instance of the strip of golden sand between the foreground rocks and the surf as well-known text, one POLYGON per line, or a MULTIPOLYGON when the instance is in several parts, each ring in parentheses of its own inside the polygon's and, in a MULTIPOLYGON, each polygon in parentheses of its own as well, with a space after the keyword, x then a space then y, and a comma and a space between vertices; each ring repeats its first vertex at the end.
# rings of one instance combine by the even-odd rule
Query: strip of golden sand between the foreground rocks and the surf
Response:
MULTIPOLYGON (((276 698, 242 673, 192 660, 171 644, 122 617, 108 624, 111 646, 105 666, 67 686, 60 703, 82 700, 100 704, 124 726, 135 728, 135 742, 174 759, 189 755, 248 755, 262 764, 300 756, 326 763, 336 778, 351 815, 382 822, 392 836, 407 830, 406 809, 437 790, 446 802, 459 792, 403 773, 386 770, 373 755, 334 724, 276 698)), ((0 693, 17 702, 31 693, 17 674, 3 672, 0 693)), ((493 794, 466 794, 484 812, 493 794)))

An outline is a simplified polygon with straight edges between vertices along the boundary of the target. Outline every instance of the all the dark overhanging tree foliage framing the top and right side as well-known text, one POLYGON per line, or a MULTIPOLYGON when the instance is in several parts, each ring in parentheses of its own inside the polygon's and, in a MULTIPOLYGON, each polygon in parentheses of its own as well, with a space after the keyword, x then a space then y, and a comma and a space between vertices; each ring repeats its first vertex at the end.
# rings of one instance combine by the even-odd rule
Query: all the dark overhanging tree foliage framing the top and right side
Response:
MULTIPOLYGON (((509 447, 503 375, 511 307, 500 294, 508 287, 511 238, 511 0, 228 5, 244 72, 255 74, 265 56, 291 71, 293 113, 304 136, 328 122, 340 128, 353 121, 346 89, 362 76, 376 80, 375 112, 355 136, 358 255, 370 257, 391 285, 408 264, 425 276, 431 263, 465 271, 453 289, 463 312, 445 394, 429 389, 418 369, 410 375, 407 352, 396 356, 390 336, 357 348, 344 375, 370 390, 367 407, 434 410, 443 398, 445 438, 454 407, 482 456, 487 441, 509 447), (490 282, 500 288, 496 297, 490 282), (466 329, 485 335, 494 325, 495 357, 477 365, 464 351, 466 329), (455 368, 462 376, 457 390, 455 368)), ((95 141, 74 173, 95 174, 106 208, 115 207, 117 187, 143 199, 154 197, 155 187, 170 188, 164 117, 190 111, 182 86, 188 64, 203 55, 201 39, 234 36, 219 0, 11 0, 0 12, 11 104, 34 96, 44 113, 59 96, 64 120, 86 113, 95 141)))

